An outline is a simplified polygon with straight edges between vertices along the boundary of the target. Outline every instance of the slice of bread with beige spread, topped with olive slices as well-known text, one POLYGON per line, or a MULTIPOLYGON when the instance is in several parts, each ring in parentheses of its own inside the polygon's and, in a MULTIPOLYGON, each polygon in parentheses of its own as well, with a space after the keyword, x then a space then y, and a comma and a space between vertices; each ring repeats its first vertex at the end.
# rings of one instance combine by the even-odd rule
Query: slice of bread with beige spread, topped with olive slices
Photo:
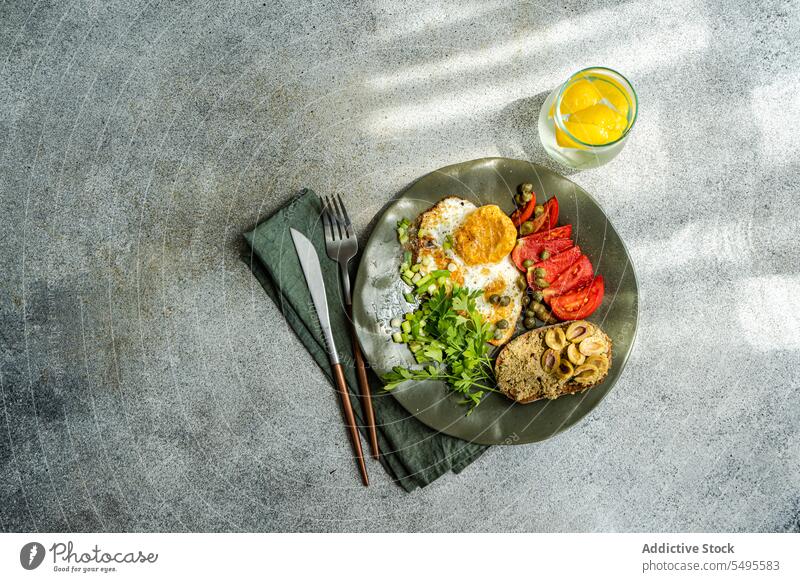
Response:
MULTIPOLYGON (((602 383, 608 376, 611 367, 612 343, 609 338, 598 326, 588 322, 577 322, 587 326, 585 340, 594 342, 595 350, 604 348, 604 351, 596 354, 596 359, 590 364, 602 362, 604 365, 598 366, 597 372, 590 374, 589 378, 571 376, 559 378, 554 373, 548 372, 542 365, 542 356, 548 349, 545 342, 545 334, 548 330, 561 328, 565 333, 573 323, 567 321, 524 333, 510 341, 497 356, 495 361, 495 376, 497 378, 498 389, 511 400, 521 404, 535 402, 543 398, 553 400, 564 394, 574 394, 583 392, 602 383)), ((568 360, 566 354, 567 347, 571 342, 567 340, 566 346, 560 350, 559 357, 568 360)), ((576 348, 580 344, 576 344, 576 348)), ((591 347, 590 343, 586 344, 591 347)), ((588 349, 586 351, 589 351, 588 349)), ((573 364, 571 364, 573 365, 573 364)), ((574 365, 575 370, 579 369, 574 365)))

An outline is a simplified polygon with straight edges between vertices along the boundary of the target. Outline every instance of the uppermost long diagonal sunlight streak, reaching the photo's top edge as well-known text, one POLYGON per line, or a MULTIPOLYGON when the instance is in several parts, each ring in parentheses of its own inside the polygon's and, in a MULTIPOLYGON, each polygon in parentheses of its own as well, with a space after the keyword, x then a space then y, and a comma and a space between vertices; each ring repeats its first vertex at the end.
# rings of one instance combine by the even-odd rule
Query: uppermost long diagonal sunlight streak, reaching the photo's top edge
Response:
MULTIPOLYGON (((670 6, 666 21, 661 20, 661 30, 674 31, 685 22, 686 14, 695 12, 694 2, 679 1, 670 6)), ((476 71, 501 65, 512 59, 537 55, 543 50, 575 41, 602 40, 618 31, 620 22, 647 21, 652 13, 649 2, 633 2, 622 7, 602 8, 578 17, 561 20, 543 30, 534 30, 490 48, 461 52, 452 57, 423 65, 414 65, 390 75, 374 77, 368 85, 377 90, 390 89, 435 77, 457 75, 465 71, 476 71)), ((622 35, 620 35, 621 37, 622 35)), ((605 61, 598 61, 605 62, 605 61)))

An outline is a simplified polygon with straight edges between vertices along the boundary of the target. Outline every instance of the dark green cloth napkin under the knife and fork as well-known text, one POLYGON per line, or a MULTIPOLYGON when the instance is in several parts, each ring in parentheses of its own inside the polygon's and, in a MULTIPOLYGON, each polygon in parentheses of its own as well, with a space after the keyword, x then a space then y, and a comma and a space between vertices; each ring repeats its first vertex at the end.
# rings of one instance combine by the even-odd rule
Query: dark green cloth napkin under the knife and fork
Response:
MULTIPOLYGON (((314 243, 325 279, 334 341, 344 367, 348 388, 356 396, 359 393, 358 382, 352 365, 353 350, 347 315, 340 301, 338 266, 328 259, 325 252, 325 239, 319 219, 320 208, 317 195, 311 190, 303 190, 270 218, 244 234, 252 253, 246 253, 243 259, 330 379, 328 354, 289 228, 299 230, 314 243)), ((448 471, 458 473, 486 450, 486 446, 469 443, 428 428, 409 415, 393 396, 383 391, 381 381, 372 371, 368 370, 368 377, 378 426, 378 443, 382 452, 381 462, 406 491, 424 487, 448 471)), ((360 400, 357 397, 351 400, 356 419, 359 425, 363 425, 360 400)), ((366 434, 363 426, 362 434, 366 434)), ((342 438, 347 438, 344 428, 342 438)), ((363 446, 366 455, 369 451, 366 438, 363 446)), ((357 479, 355 463, 351 469, 353 479, 357 479)))

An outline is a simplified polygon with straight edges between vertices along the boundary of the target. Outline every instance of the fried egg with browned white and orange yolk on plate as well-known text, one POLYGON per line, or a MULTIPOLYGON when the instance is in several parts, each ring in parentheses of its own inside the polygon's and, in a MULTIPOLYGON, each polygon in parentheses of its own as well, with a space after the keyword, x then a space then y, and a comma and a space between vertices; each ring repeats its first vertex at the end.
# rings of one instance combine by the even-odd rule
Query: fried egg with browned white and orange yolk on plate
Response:
POLYGON ((419 272, 447 269, 450 281, 480 289, 476 306, 484 319, 493 325, 508 322, 500 330, 503 335, 491 343, 502 345, 511 339, 526 285, 510 258, 517 240, 511 219, 494 204, 478 207, 451 196, 423 212, 416 226, 411 245, 419 272), (493 295, 508 299, 492 303, 493 295))

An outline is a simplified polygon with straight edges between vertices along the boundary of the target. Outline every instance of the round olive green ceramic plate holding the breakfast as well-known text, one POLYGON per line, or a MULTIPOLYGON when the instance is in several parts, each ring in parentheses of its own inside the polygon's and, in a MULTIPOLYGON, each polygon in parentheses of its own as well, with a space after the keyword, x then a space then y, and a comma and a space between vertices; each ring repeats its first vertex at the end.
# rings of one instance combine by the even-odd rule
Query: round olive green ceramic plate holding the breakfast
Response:
POLYGON ((442 382, 407 382, 391 392, 431 428, 484 444, 540 441, 572 426, 608 394, 625 367, 638 319, 636 276, 625 245, 597 202, 563 176, 522 160, 486 158, 436 170, 412 184, 383 213, 364 249, 355 285, 353 314, 370 365, 378 374, 396 365, 415 365, 405 345, 392 343, 388 324, 411 308, 403 299, 407 289, 398 275, 402 250, 397 221, 413 220, 445 196, 497 204, 510 212, 517 185, 523 182, 533 184, 540 201, 558 197, 559 224, 572 224, 576 244, 605 278, 603 304, 589 320, 612 338, 614 357, 605 382, 583 394, 525 405, 489 394, 469 416, 442 382))

